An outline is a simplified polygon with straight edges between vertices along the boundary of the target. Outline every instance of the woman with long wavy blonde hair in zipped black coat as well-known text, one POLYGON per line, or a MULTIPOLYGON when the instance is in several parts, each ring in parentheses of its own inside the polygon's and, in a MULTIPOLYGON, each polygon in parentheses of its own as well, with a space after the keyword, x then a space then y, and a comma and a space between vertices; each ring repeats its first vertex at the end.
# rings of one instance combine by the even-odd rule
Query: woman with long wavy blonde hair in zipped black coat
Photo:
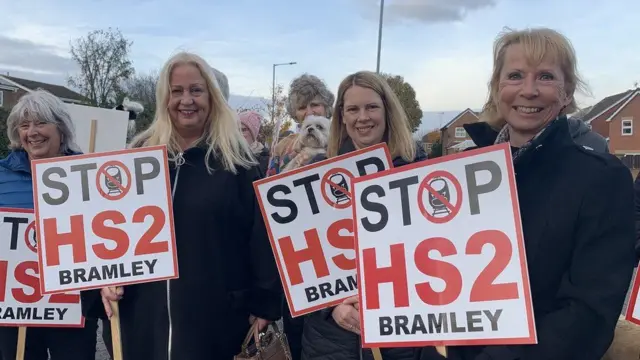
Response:
POLYGON ((180 278, 105 288, 101 315, 119 301, 125 359, 231 360, 250 321, 262 329, 280 317, 252 186, 261 172, 205 60, 171 57, 156 98, 155 119, 132 146, 168 147, 180 278))

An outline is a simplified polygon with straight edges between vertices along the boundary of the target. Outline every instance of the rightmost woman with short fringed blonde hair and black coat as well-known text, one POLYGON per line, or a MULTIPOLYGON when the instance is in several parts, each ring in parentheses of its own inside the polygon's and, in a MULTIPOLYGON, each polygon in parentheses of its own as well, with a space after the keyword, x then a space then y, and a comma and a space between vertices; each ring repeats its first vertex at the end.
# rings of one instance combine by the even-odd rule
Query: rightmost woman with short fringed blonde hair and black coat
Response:
POLYGON ((583 86, 562 34, 496 40, 484 122, 464 127, 480 148, 511 145, 538 343, 452 347, 451 359, 600 360, 611 344, 636 262, 633 180, 615 156, 572 140, 583 86))

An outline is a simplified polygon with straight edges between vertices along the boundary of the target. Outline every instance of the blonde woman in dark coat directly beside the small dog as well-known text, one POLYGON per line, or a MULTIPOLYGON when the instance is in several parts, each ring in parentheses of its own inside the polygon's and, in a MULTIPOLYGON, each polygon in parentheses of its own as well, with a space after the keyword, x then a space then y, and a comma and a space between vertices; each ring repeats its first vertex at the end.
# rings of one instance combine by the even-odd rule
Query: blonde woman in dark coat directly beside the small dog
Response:
MULTIPOLYGON (((409 130, 407 115, 391 87, 380 76, 360 71, 347 76, 338 88, 331 120, 327 157, 385 142, 394 166, 426 159, 409 130)), ((314 159, 322 160, 322 157, 314 159)), ((303 360, 371 359, 360 347, 358 298, 307 316, 302 334, 303 360)), ((383 349, 385 360, 413 359, 415 349, 383 349)), ((435 353, 435 350, 434 350, 435 353)), ((437 353, 435 353, 437 355, 437 353)))

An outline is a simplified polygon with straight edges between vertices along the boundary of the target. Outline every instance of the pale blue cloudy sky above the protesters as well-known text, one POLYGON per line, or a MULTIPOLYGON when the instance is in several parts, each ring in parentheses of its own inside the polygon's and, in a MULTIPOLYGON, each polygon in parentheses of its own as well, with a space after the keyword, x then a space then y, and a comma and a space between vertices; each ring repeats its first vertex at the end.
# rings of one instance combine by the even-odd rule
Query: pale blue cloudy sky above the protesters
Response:
MULTIPOLYGON (((0 71, 52 83, 77 70, 70 40, 108 26, 133 40, 138 72, 195 51, 236 95, 269 97, 273 63, 297 62, 277 68, 285 86, 310 72, 334 91, 376 66, 378 0, 0 0, 0 9, 0 71)), ((638 14, 637 0, 387 0, 381 68, 404 76, 425 111, 480 108, 496 35, 548 26, 574 43, 593 95, 579 99, 591 105, 640 81, 638 14)))

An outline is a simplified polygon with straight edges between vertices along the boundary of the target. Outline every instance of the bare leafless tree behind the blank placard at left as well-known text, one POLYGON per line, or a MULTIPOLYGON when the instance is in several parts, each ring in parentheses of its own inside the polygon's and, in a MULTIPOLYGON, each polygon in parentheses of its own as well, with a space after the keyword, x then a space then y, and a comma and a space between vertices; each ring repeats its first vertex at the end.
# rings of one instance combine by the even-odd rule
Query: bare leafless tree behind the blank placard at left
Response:
POLYGON ((129 53, 133 42, 120 30, 93 30, 71 42, 71 58, 80 73, 68 79, 69 86, 78 89, 92 105, 112 107, 121 84, 135 72, 129 53))

